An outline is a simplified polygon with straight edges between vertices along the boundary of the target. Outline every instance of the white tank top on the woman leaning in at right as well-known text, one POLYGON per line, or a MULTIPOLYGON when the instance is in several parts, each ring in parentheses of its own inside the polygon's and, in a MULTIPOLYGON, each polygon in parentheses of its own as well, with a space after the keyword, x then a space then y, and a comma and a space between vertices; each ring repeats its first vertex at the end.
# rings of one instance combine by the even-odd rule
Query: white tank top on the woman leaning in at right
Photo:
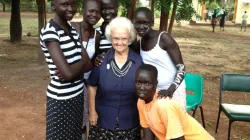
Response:
POLYGON ((140 55, 145 64, 151 64, 155 66, 158 70, 158 85, 157 89, 168 89, 172 84, 175 74, 176 67, 174 66, 170 56, 167 51, 163 50, 159 46, 159 41, 161 38, 161 32, 158 36, 158 41, 155 47, 149 51, 143 51, 141 48, 141 39, 140 39, 140 55))

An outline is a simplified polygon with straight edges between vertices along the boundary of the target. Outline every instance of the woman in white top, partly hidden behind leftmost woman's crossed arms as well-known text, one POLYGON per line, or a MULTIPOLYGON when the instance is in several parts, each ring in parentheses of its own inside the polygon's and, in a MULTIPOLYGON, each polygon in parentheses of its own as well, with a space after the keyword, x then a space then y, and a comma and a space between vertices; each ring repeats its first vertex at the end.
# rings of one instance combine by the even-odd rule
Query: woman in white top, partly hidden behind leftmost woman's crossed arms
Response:
MULTIPOLYGON (((83 20, 72 22, 72 26, 80 33, 80 41, 88 53, 90 59, 94 59, 99 54, 100 33, 93 27, 101 18, 101 3, 98 0, 86 0, 83 7, 83 20)), ((89 113, 88 113, 88 90, 86 80, 89 78, 91 70, 83 74, 84 78, 84 112, 83 112, 83 138, 89 133, 89 113), (86 130, 86 131, 85 131, 86 130)))

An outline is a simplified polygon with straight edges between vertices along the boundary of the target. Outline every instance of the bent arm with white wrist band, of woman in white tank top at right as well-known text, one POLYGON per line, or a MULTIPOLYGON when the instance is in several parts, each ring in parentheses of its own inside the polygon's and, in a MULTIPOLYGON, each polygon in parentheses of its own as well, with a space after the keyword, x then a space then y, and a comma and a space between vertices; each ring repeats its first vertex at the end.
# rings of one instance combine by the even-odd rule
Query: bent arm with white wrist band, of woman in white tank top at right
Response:
POLYGON ((180 48, 176 43, 176 41, 171 36, 169 36, 166 33, 163 33, 160 39, 160 46, 162 46, 162 49, 167 51, 173 64, 176 66, 177 73, 170 87, 166 90, 161 90, 159 92, 158 97, 159 98, 167 96, 172 97, 173 93, 175 92, 175 90, 178 88, 178 86, 181 84, 181 82, 185 77, 185 65, 182 60, 180 48))

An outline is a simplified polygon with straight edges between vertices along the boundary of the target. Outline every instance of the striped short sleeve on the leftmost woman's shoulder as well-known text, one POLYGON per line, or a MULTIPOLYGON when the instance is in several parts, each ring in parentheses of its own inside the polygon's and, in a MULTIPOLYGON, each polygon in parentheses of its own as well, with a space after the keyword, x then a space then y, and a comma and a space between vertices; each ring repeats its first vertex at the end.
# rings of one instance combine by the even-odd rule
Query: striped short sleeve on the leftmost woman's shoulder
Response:
POLYGON ((41 41, 44 43, 46 43, 48 41, 59 42, 59 35, 56 32, 55 28, 53 26, 48 25, 48 24, 44 28, 42 28, 42 30, 41 30, 41 36, 40 36, 41 41))

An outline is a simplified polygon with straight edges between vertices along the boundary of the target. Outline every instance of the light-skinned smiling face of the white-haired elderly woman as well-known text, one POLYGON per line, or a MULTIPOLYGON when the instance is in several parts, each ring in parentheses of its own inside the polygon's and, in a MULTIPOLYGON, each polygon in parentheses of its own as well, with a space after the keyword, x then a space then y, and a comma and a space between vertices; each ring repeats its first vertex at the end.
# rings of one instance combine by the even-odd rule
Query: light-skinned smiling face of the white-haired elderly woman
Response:
POLYGON ((118 53, 128 50, 129 32, 125 27, 116 27, 111 30, 112 46, 118 53))

